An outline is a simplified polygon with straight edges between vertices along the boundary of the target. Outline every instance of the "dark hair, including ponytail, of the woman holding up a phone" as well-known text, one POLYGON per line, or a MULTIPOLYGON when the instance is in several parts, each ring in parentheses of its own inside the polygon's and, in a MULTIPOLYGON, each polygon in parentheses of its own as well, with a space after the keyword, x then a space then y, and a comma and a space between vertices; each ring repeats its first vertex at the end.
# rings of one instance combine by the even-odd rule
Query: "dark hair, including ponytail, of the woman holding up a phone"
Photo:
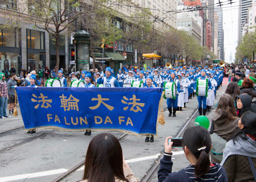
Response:
POLYGON ((194 177, 201 177, 210 169, 209 152, 212 147, 212 140, 209 131, 203 126, 195 126, 188 128, 183 135, 182 147, 185 146, 190 150, 192 155, 196 157, 194 177), (199 148, 206 147, 198 151, 199 148))

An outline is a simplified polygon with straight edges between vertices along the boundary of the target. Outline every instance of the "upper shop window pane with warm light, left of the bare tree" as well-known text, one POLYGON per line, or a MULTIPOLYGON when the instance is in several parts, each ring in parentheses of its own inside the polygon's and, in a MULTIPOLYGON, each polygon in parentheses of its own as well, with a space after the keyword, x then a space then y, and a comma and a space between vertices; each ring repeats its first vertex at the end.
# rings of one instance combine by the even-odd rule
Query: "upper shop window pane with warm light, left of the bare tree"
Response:
POLYGON ((44 32, 27 29, 27 48, 44 49, 44 41, 44 32))

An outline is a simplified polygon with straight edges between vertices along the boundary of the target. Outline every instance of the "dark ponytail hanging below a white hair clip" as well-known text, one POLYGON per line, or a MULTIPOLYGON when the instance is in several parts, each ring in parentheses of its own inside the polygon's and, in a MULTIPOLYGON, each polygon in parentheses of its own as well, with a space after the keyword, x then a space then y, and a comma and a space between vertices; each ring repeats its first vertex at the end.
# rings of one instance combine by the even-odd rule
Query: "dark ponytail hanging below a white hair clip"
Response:
POLYGON ((210 170, 210 158, 209 155, 202 150, 199 159, 195 165, 194 177, 201 177, 210 170))

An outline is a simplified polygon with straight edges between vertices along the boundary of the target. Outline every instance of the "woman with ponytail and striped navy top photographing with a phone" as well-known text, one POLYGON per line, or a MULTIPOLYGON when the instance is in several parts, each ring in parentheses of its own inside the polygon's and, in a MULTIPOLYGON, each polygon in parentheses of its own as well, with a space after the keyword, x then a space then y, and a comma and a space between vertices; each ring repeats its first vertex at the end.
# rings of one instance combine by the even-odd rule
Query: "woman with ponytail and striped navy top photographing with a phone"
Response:
POLYGON ((219 164, 210 163, 209 152, 212 147, 209 131, 202 126, 188 128, 183 135, 182 147, 187 160, 191 165, 179 172, 171 172, 171 145, 165 139, 164 157, 160 161, 158 182, 227 182, 225 169, 219 164))

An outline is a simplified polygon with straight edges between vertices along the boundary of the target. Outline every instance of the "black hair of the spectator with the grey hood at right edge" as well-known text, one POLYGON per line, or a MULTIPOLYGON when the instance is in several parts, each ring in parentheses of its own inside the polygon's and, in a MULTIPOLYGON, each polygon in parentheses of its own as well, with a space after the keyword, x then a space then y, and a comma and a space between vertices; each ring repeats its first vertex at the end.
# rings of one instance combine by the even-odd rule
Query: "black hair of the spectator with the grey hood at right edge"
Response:
POLYGON ((247 111, 243 114, 240 120, 244 127, 233 136, 234 144, 238 136, 243 140, 249 139, 246 134, 256 136, 256 113, 247 111))

